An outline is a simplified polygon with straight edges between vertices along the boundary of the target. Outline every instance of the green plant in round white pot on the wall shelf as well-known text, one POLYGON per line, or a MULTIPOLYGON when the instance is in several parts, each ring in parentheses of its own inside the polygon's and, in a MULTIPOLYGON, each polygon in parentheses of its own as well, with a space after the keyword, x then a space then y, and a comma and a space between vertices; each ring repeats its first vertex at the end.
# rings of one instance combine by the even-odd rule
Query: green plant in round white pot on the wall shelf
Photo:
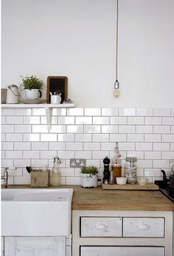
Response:
POLYGON ((21 75, 21 80, 21 87, 25 90, 27 99, 41 98, 41 89, 44 86, 44 81, 35 75, 25 77, 21 75))

